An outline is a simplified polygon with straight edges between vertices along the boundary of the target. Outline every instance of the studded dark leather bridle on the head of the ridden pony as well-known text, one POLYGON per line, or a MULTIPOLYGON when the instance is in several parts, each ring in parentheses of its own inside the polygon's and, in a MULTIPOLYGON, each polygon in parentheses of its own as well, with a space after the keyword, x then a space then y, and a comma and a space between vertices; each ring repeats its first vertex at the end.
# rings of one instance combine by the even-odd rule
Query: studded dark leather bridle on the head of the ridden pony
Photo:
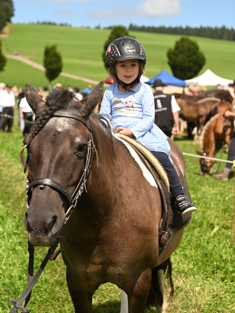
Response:
MULTIPOLYGON (((35 115, 35 120, 40 117, 40 115, 42 114, 42 112, 38 113, 35 115)), ((44 186, 50 186, 54 189, 56 189, 56 191, 62 193, 69 204, 69 208, 66 211, 66 218, 65 218, 65 223, 67 222, 72 209, 77 205, 77 200, 78 198, 82 195, 83 191, 85 190, 87 192, 87 188, 86 188, 86 183, 89 177, 89 173, 90 173, 90 169, 91 169, 91 164, 92 164, 92 160, 93 160, 93 156, 96 153, 97 156, 97 166, 98 166, 98 155, 97 155, 97 151, 93 142, 93 137, 92 137, 92 127, 90 124, 88 124, 85 119, 83 119, 83 117, 76 115, 76 114, 72 114, 72 113, 68 113, 68 112, 55 112, 53 117, 67 117, 67 118, 72 118, 74 120, 80 121, 82 122, 89 130, 89 141, 88 141, 88 148, 87 148, 87 155, 86 155, 86 163, 85 163, 85 167, 83 169, 83 174, 77 184, 77 187, 75 188, 74 192, 72 195, 70 195, 70 193, 68 192, 68 190, 63 187, 60 183, 50 179, 50 178, 36 178, 34 179, 32 182, 29 182, 29 177, 27 177, 27 184, 26 184, 26 193, 27 193, 27 208, 29 207, 29 203, 32 197, 32 192, 31 192, 31 187, 40 185, 40 189, 43 190, 44 186)), ((24 146, 25 148, 27 148, 27 146, 24 146)), ((28 157, 26 160, 26 164, 28 162, 28 157)), ((99 166, 98 166, 99 168, 99 166)))

